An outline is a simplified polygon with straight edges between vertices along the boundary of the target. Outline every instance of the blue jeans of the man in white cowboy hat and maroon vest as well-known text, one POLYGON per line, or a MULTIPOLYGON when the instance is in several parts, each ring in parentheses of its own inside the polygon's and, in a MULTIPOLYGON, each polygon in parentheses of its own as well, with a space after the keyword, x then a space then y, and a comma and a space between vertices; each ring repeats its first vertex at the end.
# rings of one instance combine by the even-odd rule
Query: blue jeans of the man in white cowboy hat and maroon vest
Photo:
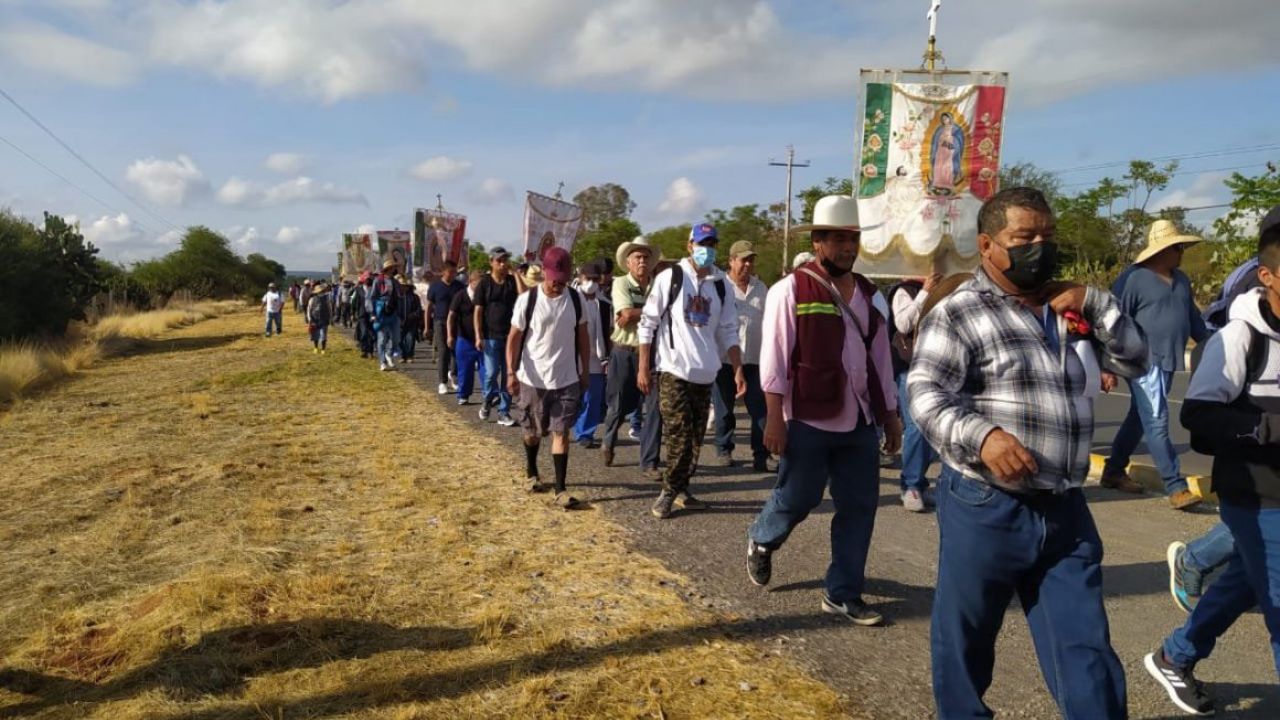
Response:
MULTIPOLYGON (((646 420, 648 421, 648 420, 646 420)), ((827 597, 860 600, 867 553, 879 505, 879 443, 876 428, 858 425, 831 433, 799 420, 787 423, 787 447, 778 462, 778 480, 764 510, 748 530, 756 543, 777 550, 831 488, 831 565, 827 597)))

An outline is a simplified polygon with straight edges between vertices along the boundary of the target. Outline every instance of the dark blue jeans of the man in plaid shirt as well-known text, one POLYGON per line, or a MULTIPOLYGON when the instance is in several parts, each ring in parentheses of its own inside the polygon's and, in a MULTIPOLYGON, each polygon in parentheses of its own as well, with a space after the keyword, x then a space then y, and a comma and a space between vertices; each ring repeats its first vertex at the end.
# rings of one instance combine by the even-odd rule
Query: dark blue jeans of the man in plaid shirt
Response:
POLYGON ((1124 667, 1102 606, 1102 541, 1079 489, 1014 496, 946 468, 929 646, 938 717, 992 717, 996 635, 1018 594, 1068 720, 1126 717, 1124 667))

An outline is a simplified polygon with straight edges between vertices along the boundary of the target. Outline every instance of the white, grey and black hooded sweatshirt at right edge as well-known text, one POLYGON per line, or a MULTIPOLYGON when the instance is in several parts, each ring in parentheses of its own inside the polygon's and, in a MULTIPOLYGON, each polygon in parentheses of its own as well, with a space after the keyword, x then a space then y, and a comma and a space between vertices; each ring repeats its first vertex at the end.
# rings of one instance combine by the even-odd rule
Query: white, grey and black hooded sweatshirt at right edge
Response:
POLYGON ((1254 288, 1231 304, 1230 322, 1210 338, 1192 375, 1181 414, 1192 434, 1217 448, 1213 489, 1245 507, 1280 507, 1280 318, 1266 292, 1254 288), (1265 343, 1265 351, 1251 382, 1252 342, 1265 343))

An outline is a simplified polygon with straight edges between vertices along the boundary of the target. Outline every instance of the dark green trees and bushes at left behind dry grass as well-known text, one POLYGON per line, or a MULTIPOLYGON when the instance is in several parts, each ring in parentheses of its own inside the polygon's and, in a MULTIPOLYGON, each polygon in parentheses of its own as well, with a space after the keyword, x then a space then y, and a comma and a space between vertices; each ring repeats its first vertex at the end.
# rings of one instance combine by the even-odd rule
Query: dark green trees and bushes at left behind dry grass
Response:
POLYGON ((84 320, 104 295, 118 305, 159 307, 178 291, 196 299, 250 297, 283 282, 284 265, 239 258, 230 242, 192 227, 178 247, 125 266, 99 258, 79 228, 45 213, 42 225, 0 210, 0 340, 52 338, 84 320))

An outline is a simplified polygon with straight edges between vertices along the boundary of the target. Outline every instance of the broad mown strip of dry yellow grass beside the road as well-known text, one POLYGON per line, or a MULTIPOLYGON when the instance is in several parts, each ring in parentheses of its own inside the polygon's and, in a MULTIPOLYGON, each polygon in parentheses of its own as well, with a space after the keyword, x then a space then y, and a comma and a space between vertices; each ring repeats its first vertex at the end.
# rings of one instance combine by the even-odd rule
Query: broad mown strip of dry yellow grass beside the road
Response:
POLYGON ((516 488, 515 447, 257 325, 0 414, 0 716, 844 712, 599 512, 516 488))

